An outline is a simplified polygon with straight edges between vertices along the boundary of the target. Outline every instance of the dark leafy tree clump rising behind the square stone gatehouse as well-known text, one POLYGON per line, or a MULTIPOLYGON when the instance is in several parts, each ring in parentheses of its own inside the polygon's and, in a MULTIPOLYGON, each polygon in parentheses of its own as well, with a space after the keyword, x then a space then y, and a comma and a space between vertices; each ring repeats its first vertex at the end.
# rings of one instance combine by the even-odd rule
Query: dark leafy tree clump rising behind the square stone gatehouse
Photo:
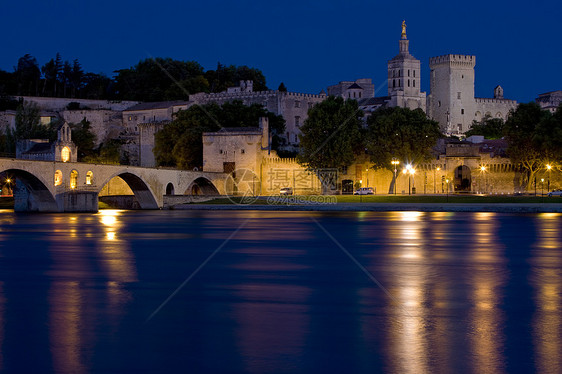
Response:
POLYGON ((269 118, 274 137, 285 131, 285 120, 261 105, 245 106, 241 101, 195 105, 180 111, 176 118, 155 135, 154 155, 159 166, 192 169, 203 165, 204 132, 223 127, 257 127, 260 117, 269 118))

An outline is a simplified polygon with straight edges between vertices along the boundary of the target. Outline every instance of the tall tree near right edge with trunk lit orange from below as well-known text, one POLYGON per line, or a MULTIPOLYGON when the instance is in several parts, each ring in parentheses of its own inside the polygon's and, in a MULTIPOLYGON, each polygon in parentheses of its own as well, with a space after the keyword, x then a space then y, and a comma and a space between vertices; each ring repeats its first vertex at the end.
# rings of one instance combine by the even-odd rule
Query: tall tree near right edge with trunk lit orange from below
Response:
POLYGON ((519 104, 505 122, 507 154, 514 165, 525 171, 520 182, 526 189, 531 188, 537 172, 551 162, 551 150, 543 142, 549 136, 560 136, 549 133, 552 124, 550 112, 542 110, 536 103, 519 104))

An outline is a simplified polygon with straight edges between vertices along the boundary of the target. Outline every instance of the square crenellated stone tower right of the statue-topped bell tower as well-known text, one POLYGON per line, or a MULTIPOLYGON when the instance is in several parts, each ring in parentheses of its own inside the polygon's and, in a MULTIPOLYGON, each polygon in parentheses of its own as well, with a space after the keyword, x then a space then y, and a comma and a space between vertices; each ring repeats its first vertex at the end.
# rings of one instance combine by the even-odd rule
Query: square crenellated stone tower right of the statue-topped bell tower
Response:
POLYGON ((428 115, 439 122, 441 131, 463 134, 472 126, 474 66, 476 56, 443 55, 429 59, 430 95, 428 115))

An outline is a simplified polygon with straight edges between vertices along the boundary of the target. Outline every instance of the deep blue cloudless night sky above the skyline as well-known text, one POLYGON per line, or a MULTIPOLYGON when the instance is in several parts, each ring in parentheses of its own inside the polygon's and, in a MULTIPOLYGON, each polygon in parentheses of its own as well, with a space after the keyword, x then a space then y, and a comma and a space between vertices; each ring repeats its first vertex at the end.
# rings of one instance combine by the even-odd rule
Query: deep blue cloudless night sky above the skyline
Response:
MULTIPOLYGON (((500 84, 506 98, 527 102, 562 89, 558 1, 3 1, 0 68, 25 53, 43 65, 57 52, 86 71, 135 65, 150 56, 261 69, 270 88, 318 93, 341 80, 383 85, 406 20, 410 52, 429 57, 476 55, 476 96, 500 84)), ((429 93, 429 92, 428 92, 429 93)), ((377 96, 386 94, 386 87, 377 96)))

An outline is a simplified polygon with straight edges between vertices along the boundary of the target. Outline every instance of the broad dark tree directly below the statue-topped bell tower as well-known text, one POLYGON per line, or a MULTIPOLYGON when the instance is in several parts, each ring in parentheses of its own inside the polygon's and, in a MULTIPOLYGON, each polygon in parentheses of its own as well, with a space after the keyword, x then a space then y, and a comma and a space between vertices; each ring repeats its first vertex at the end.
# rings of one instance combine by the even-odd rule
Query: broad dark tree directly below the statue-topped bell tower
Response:
MULTIPOLYGON (((440 136, 439 124, 421 109, 379 109, 367 119, 366 148, 374 169, 393 171, 394 157, 404 163, 431 159, 431 149, 440 136)), ((394 183, 393 177, 389 191, 394 190, 394 183)))

